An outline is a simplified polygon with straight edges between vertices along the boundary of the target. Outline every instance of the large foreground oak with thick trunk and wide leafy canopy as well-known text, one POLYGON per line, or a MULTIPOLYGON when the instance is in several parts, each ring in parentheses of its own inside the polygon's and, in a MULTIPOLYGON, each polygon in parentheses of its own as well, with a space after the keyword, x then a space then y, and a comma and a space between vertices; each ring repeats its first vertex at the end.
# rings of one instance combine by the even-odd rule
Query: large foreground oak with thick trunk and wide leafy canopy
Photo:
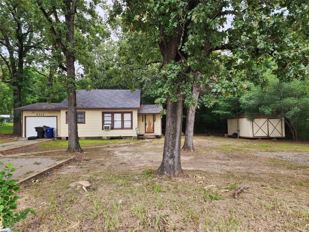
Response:
MULTIPOLYGON (((153 48, 159 48, 163 57, 158 103, 167 103, 167 124, 163 160, 157 174, 182 174, 183 99, 192 90, 188 76, 199 71, 209 77, 211 64, 218 60, 216 54, 229 54, 220 59, 227 70, 247 70, 263 57, 271 56, 282 78, 307 75, 306 5, 303 1, 267 0, 126 1, 123 5, 115 2, 115 11, 125 9, 122 17, 131 31, 147 33, 153 48), (224 30, 228 21, 231 27, 224 30)), ((230 76, 231 82, 234 77, 230 76)))

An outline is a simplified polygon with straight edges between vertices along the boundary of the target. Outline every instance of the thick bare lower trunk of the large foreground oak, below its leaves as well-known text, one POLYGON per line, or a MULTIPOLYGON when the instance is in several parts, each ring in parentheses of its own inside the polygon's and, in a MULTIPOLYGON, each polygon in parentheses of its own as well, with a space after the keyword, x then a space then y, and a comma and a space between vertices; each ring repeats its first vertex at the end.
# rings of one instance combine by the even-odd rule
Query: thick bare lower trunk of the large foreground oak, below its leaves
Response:
POLYGON ((156 174, 174 177, 182 175, 180 163, 183 100, 176 102, 167 98, 166 132, 163 160, 156 174))

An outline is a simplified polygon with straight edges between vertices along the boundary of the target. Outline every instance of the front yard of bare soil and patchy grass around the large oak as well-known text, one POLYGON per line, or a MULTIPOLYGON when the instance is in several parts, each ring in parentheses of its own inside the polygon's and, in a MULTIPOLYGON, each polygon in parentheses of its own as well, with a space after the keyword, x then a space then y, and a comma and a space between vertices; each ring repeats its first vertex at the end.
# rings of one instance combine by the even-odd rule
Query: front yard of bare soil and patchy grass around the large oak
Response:
MULTIPOLYGON (((309 231, 307 143, 202 136, 194 142, 195 152, 181 153, 184 175, 176 178, 153 174, 163 139, 84 147, 70 164, 22 184, 18 205, 36 214, 15 226, 40 232, 309 231), (92 184, 87 193, 82 180, 92 184), (249 188, 235 199, 243 185, 249 188)), ((31 149, 51 150, 52 143, 31 149)))

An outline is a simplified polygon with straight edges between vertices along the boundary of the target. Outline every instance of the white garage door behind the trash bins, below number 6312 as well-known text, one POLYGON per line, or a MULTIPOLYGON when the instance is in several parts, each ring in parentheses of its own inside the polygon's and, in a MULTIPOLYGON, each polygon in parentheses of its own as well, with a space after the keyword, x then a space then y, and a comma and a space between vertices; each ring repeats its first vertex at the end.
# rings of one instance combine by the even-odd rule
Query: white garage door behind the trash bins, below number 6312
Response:
MULTIPOLYGON (((34 127, 53 127, 54 137, 57 137, 57 117, 26 117, 26 137, 36 136, 37 132, 34 127)), ((46 137, 46 135, 45 135, 46 137)))

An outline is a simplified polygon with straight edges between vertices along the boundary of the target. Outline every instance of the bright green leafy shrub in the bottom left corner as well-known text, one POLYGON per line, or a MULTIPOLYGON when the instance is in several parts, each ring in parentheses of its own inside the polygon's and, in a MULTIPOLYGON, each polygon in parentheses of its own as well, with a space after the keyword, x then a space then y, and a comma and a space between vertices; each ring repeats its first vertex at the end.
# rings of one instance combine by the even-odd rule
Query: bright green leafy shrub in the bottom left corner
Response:
MULTIPOLYGON (((3 165, 3 163, 0 162, 0 165, 3 165)), ((29 212, 34 214, 34 211, 30 208, 15 212, 17 208, 15 202, 19 199, 17 192, 20 187, 15 180, 9 180, 15 170, 9 163, 0 172, 0 229, 13 226, 16 222, 26 218, 29 212)))

